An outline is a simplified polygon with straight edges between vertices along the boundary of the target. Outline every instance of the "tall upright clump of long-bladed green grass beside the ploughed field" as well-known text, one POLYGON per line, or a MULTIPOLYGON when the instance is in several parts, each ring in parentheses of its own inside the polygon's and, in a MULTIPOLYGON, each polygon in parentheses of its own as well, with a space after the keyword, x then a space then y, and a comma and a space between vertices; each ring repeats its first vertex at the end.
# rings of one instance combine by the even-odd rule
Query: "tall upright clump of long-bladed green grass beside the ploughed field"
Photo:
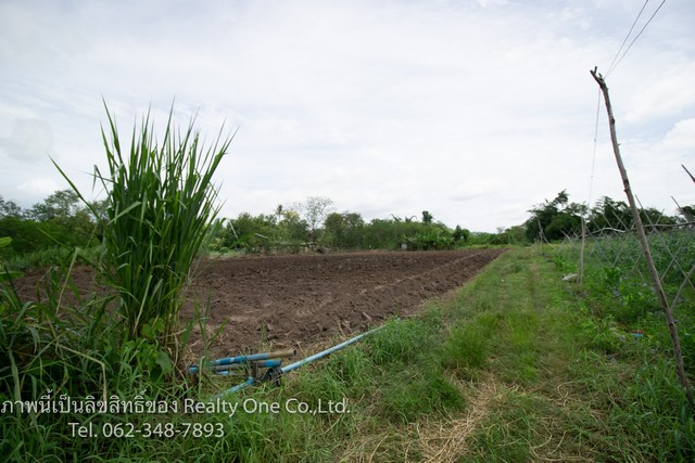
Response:
POLYGON ((232 137, 220 132, 205 147, 193 120, 182 131, 173 126, 172 108, 161 141, 148 113, 125 147, 108 107, 106 114, 102 139, 109 171, 94 171, 109 191, 106 217, 93 211, 103 227, 101 270, 117 293, 128 336, 139 337, 146 330, 170 340, 181 290, 216 227, 219 206, 212 179, 232 137))

